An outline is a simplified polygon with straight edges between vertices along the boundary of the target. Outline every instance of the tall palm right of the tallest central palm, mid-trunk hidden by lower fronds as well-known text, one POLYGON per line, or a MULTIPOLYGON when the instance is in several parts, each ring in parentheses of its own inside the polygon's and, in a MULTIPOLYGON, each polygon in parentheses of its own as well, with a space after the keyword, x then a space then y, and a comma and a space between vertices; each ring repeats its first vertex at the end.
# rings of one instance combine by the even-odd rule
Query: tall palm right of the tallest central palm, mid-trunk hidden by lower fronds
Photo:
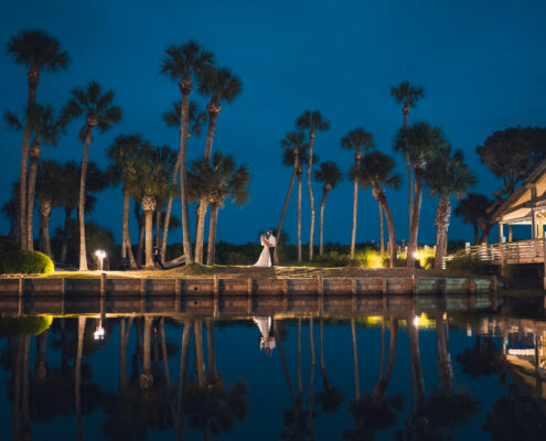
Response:
MULTIPOLYGON (((211 159, 211 152, 216 130, 216 119, 222 110, 222 101, 232 103, 237 95, 240 94, 242 83, 228 68, 207 68, 203 73, 201 80, 200 93, 205 96, 211 96, 211 100, 206 106, 208 112, 208 129, 206 132, 205 160, 211 159)), ((195 261, 203 262, 203 237, 205 232, 205 216, 207 202, 205 198, 199 203, 197 230, 195 236, 195 261)))

